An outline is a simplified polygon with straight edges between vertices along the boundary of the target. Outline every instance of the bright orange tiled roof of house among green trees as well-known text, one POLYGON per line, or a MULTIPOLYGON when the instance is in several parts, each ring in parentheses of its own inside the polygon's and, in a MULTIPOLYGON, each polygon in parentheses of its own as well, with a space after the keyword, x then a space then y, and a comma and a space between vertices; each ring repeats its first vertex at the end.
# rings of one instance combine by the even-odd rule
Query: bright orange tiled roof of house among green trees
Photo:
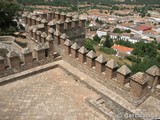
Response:
POLYGON ((133 51, 133 48, 124 47, 121 45, 114 45, 112 46, 112 48, 120 52, 132 52, 133 51))

